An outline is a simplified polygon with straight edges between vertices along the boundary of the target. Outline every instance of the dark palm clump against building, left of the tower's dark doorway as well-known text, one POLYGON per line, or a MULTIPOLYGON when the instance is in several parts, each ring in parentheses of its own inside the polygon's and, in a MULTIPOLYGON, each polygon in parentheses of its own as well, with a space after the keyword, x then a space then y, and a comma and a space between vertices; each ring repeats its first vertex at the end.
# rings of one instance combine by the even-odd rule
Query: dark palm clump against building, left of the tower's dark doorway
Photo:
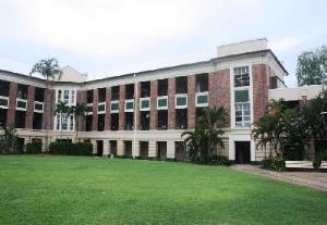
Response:
POLYGON ((182 134, 184 141, 190 149, 191 160, 210 157, 217 146, 223 147, 222 127, 226 122, 227 112, 223 108, 206 108, 198 118, 194 130, 182 134))

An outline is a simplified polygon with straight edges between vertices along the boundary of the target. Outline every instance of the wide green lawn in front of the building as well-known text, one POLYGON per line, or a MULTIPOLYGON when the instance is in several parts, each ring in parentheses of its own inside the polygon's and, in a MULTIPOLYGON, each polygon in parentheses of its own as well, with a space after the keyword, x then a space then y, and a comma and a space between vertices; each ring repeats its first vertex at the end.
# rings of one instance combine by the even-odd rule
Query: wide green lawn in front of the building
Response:
POLYGON ((0 157, 0 224, 326 223, 326 192, 228 167, 0 157))

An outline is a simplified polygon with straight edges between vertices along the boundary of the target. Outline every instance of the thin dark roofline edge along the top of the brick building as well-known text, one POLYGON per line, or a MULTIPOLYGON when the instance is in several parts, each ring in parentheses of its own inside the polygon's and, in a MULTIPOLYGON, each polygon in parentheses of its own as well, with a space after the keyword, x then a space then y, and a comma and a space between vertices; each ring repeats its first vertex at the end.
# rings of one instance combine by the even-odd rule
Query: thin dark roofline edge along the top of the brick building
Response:
MULTIPOLYGON (((153 72, 158 72, 158 71, 178 68, 178 67, 183 67, 183 66, 192 66, 192 65, 197 65, 197 64, 203 64, 203 63, 215 62, 217 60, 225 60, 225 59, 229 59, 229 58, 243 57, 243 55, 256 54, 256 53, 270 53, 272 55, 272 58, 276 60, 277 64, 286 73, 286 75, 289 75, 289 72, 284 68, 282 63, 278 60, 276 54, 271 51, 271 49, 264 49, 264 50, 258 50, 258 51, 243 52, 243 53, 239 53, 239 54, 230 54, 230 55, 225 55, 225 57, 220 57, 220 58, 213 58, 213 59, 207 60, 207 61, 199 61, 199 62, 194 62, 194 63, 184 63, 184 64, 179 64, 179 65, 173 65, 173 66, 166 66, 166 67, 159 67, 159 68, 154 68, 154 70, 140 71, 140 72, 135 72, 135 73, 121 74, 121 75, 105 77, 105 78, 100 78, 100 79, 86 80, 84 83, 60 82, 60 80, 58 80, 56 83, 57 84, 85 85, 85 84, 89 84, 89 83, 97 83, 97 82, 104 82, 104 80, 109 80, 109 79, 113 79, 113 78, 133 76, 134 74, 137 75, 137 74, 144 74, 144 73, 153 73, 153 72)), ((29 77, 32 79, 35 79, 35 80, 38 80, 38 82, 45 82, 45 79, 43 79, 43 78, 33 77, 33 76, 28 76, 28 75, 25 75, 25 74, 11 72, 11 71, 0 70, 0 72, 10 73, 10 74, 17 75, 17 76, 25 76, 25 77, 27 76, 27 77, 29 77)))

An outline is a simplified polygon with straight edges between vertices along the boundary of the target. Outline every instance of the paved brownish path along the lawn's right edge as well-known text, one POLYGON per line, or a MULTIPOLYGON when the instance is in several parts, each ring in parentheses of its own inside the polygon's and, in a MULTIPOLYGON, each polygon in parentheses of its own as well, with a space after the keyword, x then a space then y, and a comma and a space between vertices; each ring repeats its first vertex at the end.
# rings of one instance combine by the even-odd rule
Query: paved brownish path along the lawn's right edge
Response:
POLYGON ((327 191, 327 173, 316 172, 275 172, 261 168, 258 165, 233 165, 231 168, 258 174, 277 180, 282 180, 299 186, 310 187, 315 190, 327 191))

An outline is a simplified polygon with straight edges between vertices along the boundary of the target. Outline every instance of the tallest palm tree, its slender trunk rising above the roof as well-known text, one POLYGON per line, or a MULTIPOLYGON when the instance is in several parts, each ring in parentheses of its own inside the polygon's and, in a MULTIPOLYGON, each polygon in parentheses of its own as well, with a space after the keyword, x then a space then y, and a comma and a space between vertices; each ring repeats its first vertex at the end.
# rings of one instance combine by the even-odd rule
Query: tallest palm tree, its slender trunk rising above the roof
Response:
POLYGON ((49 150, 49 121, 51 120, 50 108, 51 105, 48 104, 50 102, 50 95, 49 95, 49 86, 50 82, 60 80, 62 76, 62 71, 59 66, 58 61, 55 58, 40 60, 36 63, 29 76, 33 74, 40 74, 46 79, 46 95, 45 95, 45 128, 46 128, 46 151, 49 150))

